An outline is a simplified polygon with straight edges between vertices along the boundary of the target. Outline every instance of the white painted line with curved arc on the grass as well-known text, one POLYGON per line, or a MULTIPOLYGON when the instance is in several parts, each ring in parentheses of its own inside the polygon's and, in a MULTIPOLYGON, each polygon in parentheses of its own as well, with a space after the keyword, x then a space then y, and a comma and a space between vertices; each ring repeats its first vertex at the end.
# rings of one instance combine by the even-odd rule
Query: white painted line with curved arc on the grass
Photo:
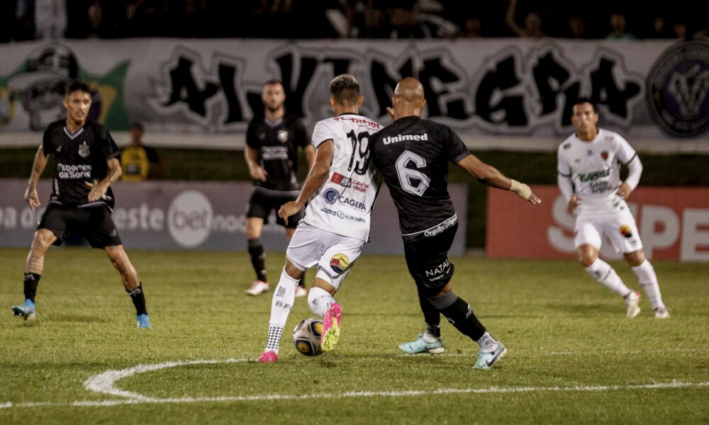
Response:
POLYGON ((138 373, 152 372, 166 368, 175 368, 184 365, 215 364, 215 363, 236 363, 245 362, 245 358, 230 358, 228 360, 197 360, 197 361, 172 361, 158 363, 155 365, 137 365, 123 370, 108 370, 99 375, 94 375, 84 382, 86 390, 101 392, 125 399, 108 399, 99 401, 77 400, 74 402, 26 402, 26 403, 0 403, 0 409, 10 409, 12 407, 111 407, 124 404, 182 404, 182 403, 219 403, 219 402, 252 402, 268 400, 302 400, 302 399, 333 399, 346 397, 417 397, 420 395, 446 395, 446 394, 503 394, 515 392, 601 392, 618 390, 663 390, 672 388, 688 387, 709 387, 706 382, 653 382, 652 384, 640 385, 575 385, 571 387, 487 387, 487 388, 439 388, 437 390, 411 390, 411 391, 349 391, 341 393, 308 394, 308 395, 250 395, 233 397, 180 397, 180 398, 154 398, 140 395, 134 392, 120 390, 116 387, 116 381, 128 378, 138 373))

